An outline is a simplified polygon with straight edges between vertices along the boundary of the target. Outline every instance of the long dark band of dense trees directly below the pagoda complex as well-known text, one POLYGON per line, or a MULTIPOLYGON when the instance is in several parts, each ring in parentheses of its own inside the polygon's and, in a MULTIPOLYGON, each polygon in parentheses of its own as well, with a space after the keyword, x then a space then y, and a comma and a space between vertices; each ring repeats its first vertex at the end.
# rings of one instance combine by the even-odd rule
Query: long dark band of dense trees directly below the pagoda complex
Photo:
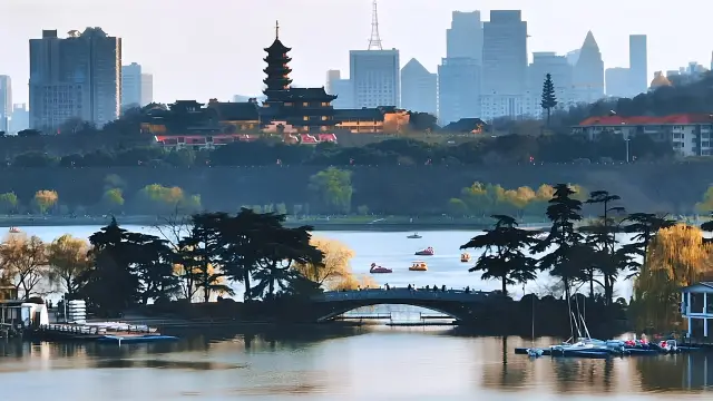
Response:
MULTIPOLYGON (((538 133, 539 134, 539 133, 538 133)), ((270 140, 231 143, 214 150, 166 149, 138 146, 116 150, 53 156, 30 151, 7 160, 12 167, 209 167, 209 166, 423 166, 492 165, 528 163, 590 163, 626 160, 626 143, 621 136, 604 133, 596 140, 573 135, 510 134, 449 144, 449 137, 432 141, 387 139, 361 147, 334 144, 293 146, 270 140)), ((673 157, 668 144, 638 135, 629 141, 629 160, 662 160, 673 157)))

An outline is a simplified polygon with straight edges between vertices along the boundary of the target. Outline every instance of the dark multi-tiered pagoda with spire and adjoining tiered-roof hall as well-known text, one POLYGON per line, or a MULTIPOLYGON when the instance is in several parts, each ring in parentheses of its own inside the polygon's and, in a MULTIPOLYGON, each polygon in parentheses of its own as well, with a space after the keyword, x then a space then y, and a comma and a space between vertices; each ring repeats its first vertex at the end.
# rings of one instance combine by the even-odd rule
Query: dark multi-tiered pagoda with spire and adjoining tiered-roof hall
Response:
POLYGON ((290 79, 291 48, 280 40, 280 25, 275 23, 275 41, 266 49, 267 67, 263 82, 266 96, 261 108, 261 125, 290 126, 301 134, 326 134, 334 129, 334 95, 321 88, 293 88, 290 79))

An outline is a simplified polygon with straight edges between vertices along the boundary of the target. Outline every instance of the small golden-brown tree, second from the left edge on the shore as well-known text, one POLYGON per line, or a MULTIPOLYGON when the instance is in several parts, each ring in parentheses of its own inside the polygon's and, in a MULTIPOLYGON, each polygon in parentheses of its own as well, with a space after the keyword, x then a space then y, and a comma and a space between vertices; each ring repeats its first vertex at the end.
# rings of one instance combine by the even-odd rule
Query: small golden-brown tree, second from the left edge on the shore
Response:
POLYGON ((72 295, 78 290, 77 278, 90 266, 89 244, 85 239, 65 234, 48 246, 50 280, 61 284, 72 295))

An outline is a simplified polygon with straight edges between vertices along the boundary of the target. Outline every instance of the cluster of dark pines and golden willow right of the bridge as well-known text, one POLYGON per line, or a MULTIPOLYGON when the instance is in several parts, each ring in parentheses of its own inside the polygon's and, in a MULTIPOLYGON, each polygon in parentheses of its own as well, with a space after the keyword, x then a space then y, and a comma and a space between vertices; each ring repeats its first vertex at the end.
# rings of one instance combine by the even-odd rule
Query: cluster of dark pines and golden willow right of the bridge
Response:
POLYGON ((544 232, 519 228, 512 216, 494 215, 492 228, 461 246, 484 250, 469 271, 500 281, 506 294, 508 285, 549 272, 561 282, 566 300, 585 286, 589 299, 604 305, 614 303, 614 284, 625 277, 634 281, 629 309, 637 329, 680 327, 680 288, 713 274, 713 247, 703 236, 713 232, 713 222, 699 228, 664 215, 626 214, 617 195, 595 190, 580 200, 576 194, 569 185, 554 186, 546 208, 551 226, 544 232), (600 216, 576 228, 585 204, 597 206, 600 216), (621 234, 632 242, 622 243, 621 234))

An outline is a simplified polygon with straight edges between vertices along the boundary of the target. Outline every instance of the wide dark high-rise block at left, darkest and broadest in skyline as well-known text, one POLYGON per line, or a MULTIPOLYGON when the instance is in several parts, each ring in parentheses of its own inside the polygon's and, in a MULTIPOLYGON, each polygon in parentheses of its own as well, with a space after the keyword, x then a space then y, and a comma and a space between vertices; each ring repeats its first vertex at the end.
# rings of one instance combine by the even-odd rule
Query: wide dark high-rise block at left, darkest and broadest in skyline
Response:
POLYGON ((30 39, 30 127, 57 131, 70 118, 102 126, 121 106, 121 39, 101 28, 66 39, 43 30, 30 39))

